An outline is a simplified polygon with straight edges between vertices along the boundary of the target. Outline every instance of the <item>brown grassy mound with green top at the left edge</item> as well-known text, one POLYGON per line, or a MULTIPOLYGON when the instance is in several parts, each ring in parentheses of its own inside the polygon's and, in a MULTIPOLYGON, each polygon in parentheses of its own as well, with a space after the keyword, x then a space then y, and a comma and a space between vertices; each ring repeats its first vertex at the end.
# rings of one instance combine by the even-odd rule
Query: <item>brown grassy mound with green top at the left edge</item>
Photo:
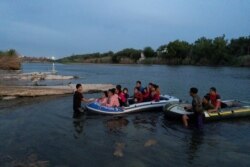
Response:
POLYGON ((14 49, 0 51, 0 69, 1 70, 20 70, 21 59, 14 49))

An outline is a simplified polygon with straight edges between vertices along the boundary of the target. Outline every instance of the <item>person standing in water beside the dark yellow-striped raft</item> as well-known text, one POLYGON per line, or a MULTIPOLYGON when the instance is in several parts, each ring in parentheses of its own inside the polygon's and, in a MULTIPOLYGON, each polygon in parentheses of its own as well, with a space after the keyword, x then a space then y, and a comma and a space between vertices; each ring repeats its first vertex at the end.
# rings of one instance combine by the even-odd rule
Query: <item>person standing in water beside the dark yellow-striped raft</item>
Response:
POLYGON ((188 127, 188 120, 194 119, 195 125, 197 128, 202 128, 203 126, 203 108, 202 108, 202 101, 201 98, 198 96, 198 89, 197 88, 190 88, 189 95, 193 98, 192 100, 192 106, 184 107, 187 111, 193 111, 194 115, 188 116, 183 115, 182 116, 182 122, 185 127, 188 127))

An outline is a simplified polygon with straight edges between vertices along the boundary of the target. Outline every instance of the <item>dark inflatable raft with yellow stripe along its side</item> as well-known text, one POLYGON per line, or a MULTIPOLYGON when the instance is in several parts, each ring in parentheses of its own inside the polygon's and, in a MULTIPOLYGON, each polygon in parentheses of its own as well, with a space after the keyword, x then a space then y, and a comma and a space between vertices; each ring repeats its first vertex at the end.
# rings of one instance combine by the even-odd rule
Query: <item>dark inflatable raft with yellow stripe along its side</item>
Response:
MULTIPOLYGON (((185 106, 187 106, 187 104, 166 105, 164 108, 164 114, 170 119, 181 119, 184 114, 193 115, 193 112, 184 109, 185 106)), ((222 108, 219 112, 208 113, 207 111, 204 111, 205 121, 218 121, 248 116, 250 116, 250 103, 237 100, 222 101, 222 108)))

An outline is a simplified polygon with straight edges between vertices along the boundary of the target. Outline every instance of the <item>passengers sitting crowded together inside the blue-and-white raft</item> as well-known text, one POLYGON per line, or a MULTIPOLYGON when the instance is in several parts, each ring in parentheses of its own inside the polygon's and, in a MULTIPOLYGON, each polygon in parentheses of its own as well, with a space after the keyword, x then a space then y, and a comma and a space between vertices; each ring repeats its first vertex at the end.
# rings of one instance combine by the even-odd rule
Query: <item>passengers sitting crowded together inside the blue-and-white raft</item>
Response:
POLYGON ((97 101, 108 107, 126 107, 131 103, 141 103, 146 101, 159 101, 160 89, 159 86, 153 83, 149 83, 147 87, 142 87, 141 81, 136 82, 134 87, 134 94, 130 98, 128 94, 128 88, 123 88, 121 85, 116 85, 116 88, 104 91, 101 98, 97 101))

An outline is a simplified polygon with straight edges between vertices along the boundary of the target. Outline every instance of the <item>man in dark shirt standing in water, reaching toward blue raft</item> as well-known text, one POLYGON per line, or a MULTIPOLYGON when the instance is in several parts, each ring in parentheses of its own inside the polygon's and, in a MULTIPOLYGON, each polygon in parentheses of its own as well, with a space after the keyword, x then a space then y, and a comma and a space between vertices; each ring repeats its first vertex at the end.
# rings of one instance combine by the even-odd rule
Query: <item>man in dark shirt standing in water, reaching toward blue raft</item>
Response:
POLYGON ((87 99, 84 98, 82 95, 83 92, 83 88, 81 84, 76 84, 76 91, 74 93, 74 97, 73 97, 73 110, 76 114, 84 112, 82 106, 81 106, 81 102, 85 102, 85 103, 89 103, 94 101, 95 99, 87 99))

